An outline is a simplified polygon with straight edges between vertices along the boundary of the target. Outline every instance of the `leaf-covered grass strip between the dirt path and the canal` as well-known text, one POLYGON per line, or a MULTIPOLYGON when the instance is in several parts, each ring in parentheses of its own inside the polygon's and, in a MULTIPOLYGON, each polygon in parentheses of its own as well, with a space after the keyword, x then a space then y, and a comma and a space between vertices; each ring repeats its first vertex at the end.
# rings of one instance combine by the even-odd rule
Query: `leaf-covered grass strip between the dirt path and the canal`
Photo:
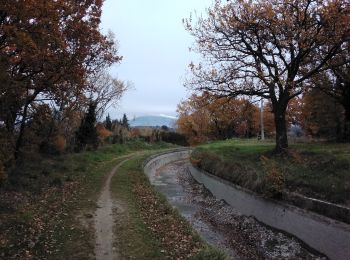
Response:
POLYGON ((117 215, 116 248, 122 259, 226 259, 208 247, 189 223, 150 185, 145 156, 123 165, 112 181, 122 206, 117 215), (209 258, 206 258, 209 257, 209 258))

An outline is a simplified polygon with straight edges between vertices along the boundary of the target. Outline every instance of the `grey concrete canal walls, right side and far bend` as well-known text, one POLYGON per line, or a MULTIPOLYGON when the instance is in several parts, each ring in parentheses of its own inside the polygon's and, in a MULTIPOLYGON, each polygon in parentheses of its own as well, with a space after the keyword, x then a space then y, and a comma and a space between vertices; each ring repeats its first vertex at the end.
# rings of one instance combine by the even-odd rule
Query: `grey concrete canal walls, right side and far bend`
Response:
MULTIPOLYGON (((145 173, 152 178, 158 168, 173 161, 187 159, 189 154, 189 150, 180 150, 154 156, 145 163, 145 173)), ((263 198, 193 166, 189 170, 194 179, 216 198, 225 200, 243 215, 253 216, 268 226, 296 236, 330 259, 350 259, 350 225, 263 198)))

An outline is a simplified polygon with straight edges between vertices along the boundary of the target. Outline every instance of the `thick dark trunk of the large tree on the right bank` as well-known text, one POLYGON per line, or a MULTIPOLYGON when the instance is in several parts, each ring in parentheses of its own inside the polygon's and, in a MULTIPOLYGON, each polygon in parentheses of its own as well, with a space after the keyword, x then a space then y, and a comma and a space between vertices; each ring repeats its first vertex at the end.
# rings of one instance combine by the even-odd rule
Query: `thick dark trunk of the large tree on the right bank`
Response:
POLYGON ((276 153, 283 153, 288 148, 287 127, 286 127, 286 109, 277 107, 274 109, 276 126, 276 153))

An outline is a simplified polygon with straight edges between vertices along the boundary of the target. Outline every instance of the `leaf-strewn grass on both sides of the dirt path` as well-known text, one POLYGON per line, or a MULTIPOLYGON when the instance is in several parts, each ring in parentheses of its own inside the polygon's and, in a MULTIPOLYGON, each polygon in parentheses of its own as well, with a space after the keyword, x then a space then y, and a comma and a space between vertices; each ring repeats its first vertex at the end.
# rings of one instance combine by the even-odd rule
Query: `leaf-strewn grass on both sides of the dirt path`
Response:
POLYGON ((175 148, 133 140, 61 156, 33 154, 0 191, 0 259, 95 259, 93 215, 105 177, 130 155, 112 180, 116 248, 135 259, 226 259, 150 185, 142 163, 175 148), (198 255, 197 255, 198 254, 198 255))

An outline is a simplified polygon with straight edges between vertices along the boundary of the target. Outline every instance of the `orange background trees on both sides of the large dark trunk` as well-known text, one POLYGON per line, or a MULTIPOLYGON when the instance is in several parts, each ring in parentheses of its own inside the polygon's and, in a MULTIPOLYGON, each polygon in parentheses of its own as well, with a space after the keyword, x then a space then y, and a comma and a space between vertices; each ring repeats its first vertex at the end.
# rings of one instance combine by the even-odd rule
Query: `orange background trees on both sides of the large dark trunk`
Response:
MULTIPOLYGON (((185 135, 190 144, 233 137, 259 137, 261 110, 258 103, 218 97, 208 92, 193 94, 178 105, 177 131, 185 135)), ((276 134, 272 111, 271 102, 264 103, 263 124, 267 138, 276 134)), ((345 111, 336 99, 320 89, 310 88, 289 102, 286 122, 288 129, 299 127, 299 132, 289 132, 294 137, 342 140, 345 111)))

